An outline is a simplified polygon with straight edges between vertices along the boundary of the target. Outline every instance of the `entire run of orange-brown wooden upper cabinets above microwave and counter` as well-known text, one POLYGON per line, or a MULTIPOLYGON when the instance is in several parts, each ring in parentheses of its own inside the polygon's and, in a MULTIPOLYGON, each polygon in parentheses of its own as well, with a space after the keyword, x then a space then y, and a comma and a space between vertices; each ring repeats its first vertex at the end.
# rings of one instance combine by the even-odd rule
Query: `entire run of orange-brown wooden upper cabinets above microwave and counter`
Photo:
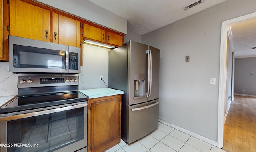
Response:
POLYGON ((80 47, 81 52, 83 38, 113 46, 123 45, 123 34, 94 25, 33 0, 0 0, 0 7, 0 28, 2 30, 0 32, 0 60, 2 61, 9 60, 9 35, 80 47), (84 24, 80 25, 80 22, 84 24))

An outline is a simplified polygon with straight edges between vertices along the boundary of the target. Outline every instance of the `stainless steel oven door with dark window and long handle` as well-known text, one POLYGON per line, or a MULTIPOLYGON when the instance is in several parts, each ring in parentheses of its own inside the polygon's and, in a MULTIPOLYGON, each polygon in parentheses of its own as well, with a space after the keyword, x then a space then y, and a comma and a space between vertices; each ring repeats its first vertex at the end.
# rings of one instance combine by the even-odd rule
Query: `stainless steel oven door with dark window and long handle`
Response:
POLYGON ((86 151, 87 103, 0 118, 1 152, 86 151))

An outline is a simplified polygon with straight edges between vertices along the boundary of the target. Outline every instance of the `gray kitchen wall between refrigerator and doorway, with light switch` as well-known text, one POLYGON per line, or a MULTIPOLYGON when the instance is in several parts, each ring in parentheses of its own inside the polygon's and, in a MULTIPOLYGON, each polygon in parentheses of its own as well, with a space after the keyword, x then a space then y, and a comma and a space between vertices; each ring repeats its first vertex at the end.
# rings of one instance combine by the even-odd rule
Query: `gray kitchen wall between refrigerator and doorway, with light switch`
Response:
POLYGON ((217 141, 221 22, 255 6, 256 0, 227 0, 142 36, 160 49, 160 119, 217 141))

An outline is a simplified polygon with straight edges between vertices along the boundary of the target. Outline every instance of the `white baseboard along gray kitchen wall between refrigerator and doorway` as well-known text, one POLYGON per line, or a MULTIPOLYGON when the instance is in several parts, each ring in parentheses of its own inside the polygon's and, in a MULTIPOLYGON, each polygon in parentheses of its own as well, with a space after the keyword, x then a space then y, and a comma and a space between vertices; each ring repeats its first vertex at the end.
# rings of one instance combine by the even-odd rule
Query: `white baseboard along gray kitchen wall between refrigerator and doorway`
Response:
POLYGON ((167 126, 170 126, 170 127, 174 128, 174 129, 177 129, 177 130, 179 130, 179 131, 181 131, 181 132, 184 132, 184 133, 186 133, 186 134, 188 134, 188 135, 190 135, 190 136, 193 136, 193 137, 195 137, 195 138, 198 138, 198 139, 200 139, 200 140, 202 140, 202 141, 204 141, 204 142, 207 142, 208 144, 211 144, 211 145, 217 147, 217 142, 216 142, 216 141, 213 141, 213 140, 210 140, 210 139, 205 138, 205 137, 203 137, 203 136, 200 136, 200 135, 198 135, 198 134, 196 134, 196 133, 194 133, 194 132, 191 132, 191 131, 189 131, 189 130, 180 128, 180 127, 178 127, 178 126, 176 126, 176 125, 174 125, 174 124, 171 124, 171 123, 169 123, 169 122, 166 122, 166 121, 164 121, 164 120, 161 120, 161 119, 158 119, 158 120, 159 120, 159 122, 161 122, 161 123, 163 123, 163 124, 166 124, 167 126))

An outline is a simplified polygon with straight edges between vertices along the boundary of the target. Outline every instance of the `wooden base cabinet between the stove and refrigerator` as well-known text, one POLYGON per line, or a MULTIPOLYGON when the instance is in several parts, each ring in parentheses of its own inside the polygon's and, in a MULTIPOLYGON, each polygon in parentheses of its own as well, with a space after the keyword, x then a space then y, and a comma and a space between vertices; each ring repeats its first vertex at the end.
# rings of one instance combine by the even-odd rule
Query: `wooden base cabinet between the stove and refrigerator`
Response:
POLYGON ((121 140, 121 95, 88 99, 88 152, 103 152, 121 140))

